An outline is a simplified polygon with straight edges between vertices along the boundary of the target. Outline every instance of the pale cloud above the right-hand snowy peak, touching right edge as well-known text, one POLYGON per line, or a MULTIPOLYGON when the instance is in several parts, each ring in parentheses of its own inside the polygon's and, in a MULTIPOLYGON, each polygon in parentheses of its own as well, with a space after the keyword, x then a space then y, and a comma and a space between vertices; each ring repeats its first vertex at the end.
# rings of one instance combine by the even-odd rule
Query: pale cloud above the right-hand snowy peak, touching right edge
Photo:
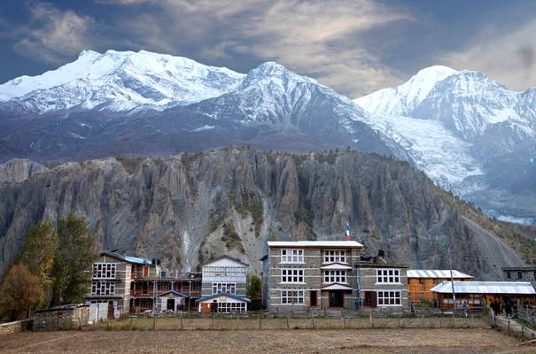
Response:
POLYGON ((536 81, 536 20, 522 24, 509 33, 492 27, 470 38, 463 50, 439 52, 437 61, 457 69, 486 73, 493 80, 522 91, 536 81))

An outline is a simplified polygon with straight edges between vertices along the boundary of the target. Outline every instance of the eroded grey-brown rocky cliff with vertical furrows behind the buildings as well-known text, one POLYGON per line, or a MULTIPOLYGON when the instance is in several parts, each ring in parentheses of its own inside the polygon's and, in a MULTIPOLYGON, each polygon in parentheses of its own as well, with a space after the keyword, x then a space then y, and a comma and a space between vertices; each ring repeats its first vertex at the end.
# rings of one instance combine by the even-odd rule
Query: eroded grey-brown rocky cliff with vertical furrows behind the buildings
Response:
POLYGON ((100 248, 161 258, 172 269, 221 254, 259 269, 266 241, 340 240, 346 222, 369 252, 381 248, 414 267, 446 267, 448 247, 457 269, 481 279, 525 263, 474 217, 481 214, 454 202, 408 163, 353 150, 229 147, 71 162, 0 181, 0 273, 27 227, 68 212, 89 220, 100 248))

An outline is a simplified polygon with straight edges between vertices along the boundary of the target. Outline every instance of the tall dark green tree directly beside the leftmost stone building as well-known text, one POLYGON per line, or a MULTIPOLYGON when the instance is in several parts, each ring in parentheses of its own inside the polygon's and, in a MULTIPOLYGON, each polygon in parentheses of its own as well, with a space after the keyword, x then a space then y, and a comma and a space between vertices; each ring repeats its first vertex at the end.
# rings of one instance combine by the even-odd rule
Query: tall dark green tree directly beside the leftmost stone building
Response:
POLYGON ((58 221, 58 249, 52 269, 52 304, 82 302, 91 281, 91 268, 97 254, 88 223, 74 213, 58 221))

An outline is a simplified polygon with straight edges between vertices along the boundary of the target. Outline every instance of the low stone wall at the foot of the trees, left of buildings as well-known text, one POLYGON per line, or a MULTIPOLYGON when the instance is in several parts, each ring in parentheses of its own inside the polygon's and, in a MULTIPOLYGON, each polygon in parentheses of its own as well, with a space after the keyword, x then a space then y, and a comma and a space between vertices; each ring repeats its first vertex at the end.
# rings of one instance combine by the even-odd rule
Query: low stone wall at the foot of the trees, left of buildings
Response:
POLYGON ((35 331, 79 329, 87 326, 88 321, 89 306, 48 309, 35 312, 33 329, 35 331))

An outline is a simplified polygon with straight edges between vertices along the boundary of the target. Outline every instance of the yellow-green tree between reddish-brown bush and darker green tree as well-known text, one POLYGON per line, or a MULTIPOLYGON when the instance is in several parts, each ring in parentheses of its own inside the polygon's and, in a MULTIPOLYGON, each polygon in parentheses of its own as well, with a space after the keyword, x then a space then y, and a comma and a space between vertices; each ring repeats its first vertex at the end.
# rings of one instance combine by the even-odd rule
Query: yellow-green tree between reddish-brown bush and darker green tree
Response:
POLYGON ((43 298, 40 306, 50 302, 53 285, 52 266, 58 248, 58 235, 50 222, 43 222, 30 227, 24 241, 20 262, 27 266, 43 286, 43 298))

